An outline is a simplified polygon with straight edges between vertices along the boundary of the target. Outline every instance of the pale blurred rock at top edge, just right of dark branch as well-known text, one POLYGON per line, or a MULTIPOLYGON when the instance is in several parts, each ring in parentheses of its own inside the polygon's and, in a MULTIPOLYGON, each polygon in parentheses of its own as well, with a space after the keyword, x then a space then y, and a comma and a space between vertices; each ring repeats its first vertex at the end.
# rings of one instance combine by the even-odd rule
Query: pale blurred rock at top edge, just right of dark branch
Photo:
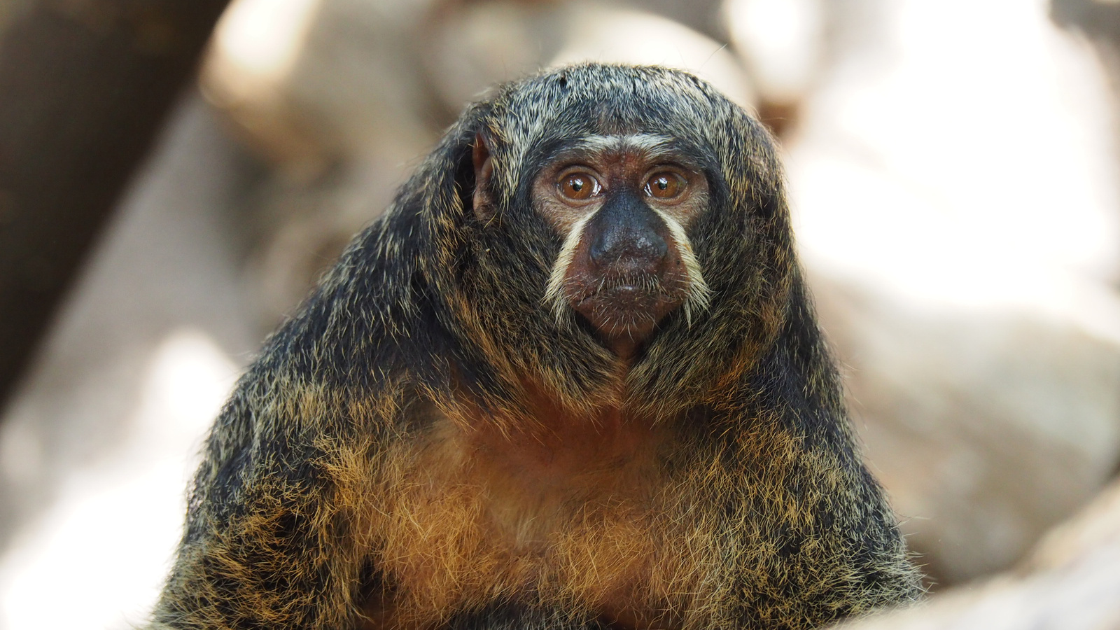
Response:
MULTIPOLYGON (((207 98, 293 172, 438 136, 418 41, 433 0, 236 0, 203 67, 207 98)), ((438 112, 437 112, 438 113, 438 112)))

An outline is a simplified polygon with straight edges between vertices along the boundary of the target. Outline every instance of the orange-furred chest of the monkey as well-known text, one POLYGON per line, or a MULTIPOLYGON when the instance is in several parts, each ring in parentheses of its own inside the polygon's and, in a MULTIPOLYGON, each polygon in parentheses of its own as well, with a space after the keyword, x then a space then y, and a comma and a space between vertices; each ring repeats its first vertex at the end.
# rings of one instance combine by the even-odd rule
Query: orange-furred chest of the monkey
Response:
POLYGON ((659 471, 660 436, 598 428, 548 444, 445 426, 399 453, 374 526, 394 624, 523 599, 674 626, 666 611, 697 592, 709 549, 690 543, 704 537, 659 471))

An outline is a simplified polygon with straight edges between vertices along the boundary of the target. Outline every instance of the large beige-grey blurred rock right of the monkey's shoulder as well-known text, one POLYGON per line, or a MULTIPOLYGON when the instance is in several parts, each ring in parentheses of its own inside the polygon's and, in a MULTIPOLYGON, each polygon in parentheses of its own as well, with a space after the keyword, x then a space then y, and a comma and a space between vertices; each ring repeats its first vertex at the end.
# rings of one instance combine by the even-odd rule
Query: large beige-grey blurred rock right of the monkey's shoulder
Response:
POLYGON ((1120 344, 812 280, 867 455, 935 581, 1011 565, 1113 472, 1120 344))

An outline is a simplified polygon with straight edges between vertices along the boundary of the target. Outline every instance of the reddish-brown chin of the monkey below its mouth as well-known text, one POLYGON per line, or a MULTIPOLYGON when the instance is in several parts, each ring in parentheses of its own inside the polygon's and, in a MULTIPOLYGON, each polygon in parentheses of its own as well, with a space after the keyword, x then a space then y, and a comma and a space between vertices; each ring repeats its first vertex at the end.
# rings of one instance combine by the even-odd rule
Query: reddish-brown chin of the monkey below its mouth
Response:
POLYGON ((657 324, 682 299, 663 291, 622 285, 572 304, 604 343, 623 359, 631 359, 648 341, 657 324))

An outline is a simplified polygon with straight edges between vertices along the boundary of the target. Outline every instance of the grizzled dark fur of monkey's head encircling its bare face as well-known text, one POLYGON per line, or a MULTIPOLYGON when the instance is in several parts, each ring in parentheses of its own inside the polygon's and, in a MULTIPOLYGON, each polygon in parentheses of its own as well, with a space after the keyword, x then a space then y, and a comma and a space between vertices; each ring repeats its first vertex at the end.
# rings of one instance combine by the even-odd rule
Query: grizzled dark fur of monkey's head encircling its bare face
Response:
POLYGON ((403 191, 383 221, 407 224, 401 238, 428 249, 404 241, 380 247, 416 257, 413 277, 399 281, 428 297, 448 341, 483 349, 485 356, 466 361, 476 373, 451 377, 487 405, 519 398, 515 390, 531 379, 573 409, 623 396, 631 408, 671 414, 748 370, 785 317, 796 263, 773 140, 684 72, 579 65, 505 85, 461 117, 403 191), (672 138, 701 166, 710 194, 688 234, 710 303, 691 317, 673 313, 661 322, 622 374, 572 314, 558 318, 545 303, 563 239, 530 198, 535 174, 566 142, 619 133, 672 138), (479 135, 494 169, 495 207, 485 216, 472 211, 479 135))

